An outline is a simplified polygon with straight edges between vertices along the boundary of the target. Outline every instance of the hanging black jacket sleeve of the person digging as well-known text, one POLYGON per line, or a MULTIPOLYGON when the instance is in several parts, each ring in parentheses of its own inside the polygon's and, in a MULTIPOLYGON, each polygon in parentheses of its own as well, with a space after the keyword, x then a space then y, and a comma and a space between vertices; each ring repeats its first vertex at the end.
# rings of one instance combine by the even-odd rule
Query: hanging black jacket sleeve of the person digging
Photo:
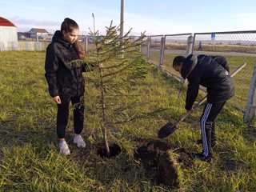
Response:
POLYGON ((198 90, 200 86, 200 78, 194 77, 189 79, 189 85, 186 91, 186 110, 191 110, 195 99, 198 96, 198 90))

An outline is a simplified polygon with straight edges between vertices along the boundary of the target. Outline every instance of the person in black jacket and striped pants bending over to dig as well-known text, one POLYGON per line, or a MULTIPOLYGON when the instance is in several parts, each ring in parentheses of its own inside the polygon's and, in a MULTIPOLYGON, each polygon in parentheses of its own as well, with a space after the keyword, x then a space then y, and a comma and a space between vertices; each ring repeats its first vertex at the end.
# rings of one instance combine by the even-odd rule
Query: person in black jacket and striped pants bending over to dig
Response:
POLYGON ((195 158, 211 162, 211 147, 216 145, 215 119, 226 101, 234 96, 234 83, 230 77, 230 69, 226 58, 222 56, 193 55, 174 58, 174 70, 189 84, 186 91, 186 110, 193 110, 193 104, 198 96, 199 86, 206 87, 207 102, 200 118, 203 150, 194 154, 195 158))

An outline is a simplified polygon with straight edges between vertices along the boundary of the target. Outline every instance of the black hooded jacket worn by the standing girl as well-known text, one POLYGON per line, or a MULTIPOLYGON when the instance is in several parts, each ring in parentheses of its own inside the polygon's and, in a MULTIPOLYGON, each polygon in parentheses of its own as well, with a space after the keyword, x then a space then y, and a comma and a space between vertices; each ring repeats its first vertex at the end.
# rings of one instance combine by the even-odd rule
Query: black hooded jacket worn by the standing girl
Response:
POLYGON ((85 81, 82 72, 86 72, 90 65, 71 63, 77 59, 78 54, 74 50, 74 46, 62 39, 59 30, 56 31, 52 42, 47 47, 45 63, 45 76, 51 97, 57 95, 82 96, 84 94, 85 81))

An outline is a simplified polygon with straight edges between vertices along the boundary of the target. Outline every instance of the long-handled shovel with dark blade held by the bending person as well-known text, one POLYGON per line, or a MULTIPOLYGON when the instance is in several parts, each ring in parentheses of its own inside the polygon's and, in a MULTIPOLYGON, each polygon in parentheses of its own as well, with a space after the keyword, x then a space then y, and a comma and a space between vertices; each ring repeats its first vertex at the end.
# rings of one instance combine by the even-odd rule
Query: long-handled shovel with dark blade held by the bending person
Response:
MULTIPOLYGON (((242 64, 241 66, 238 66, 238 68, 236 70, 234 70, 234 72, 230 75, 232 78, 234 77, 234 75, 238 74, 238 72, 240 70, 242 70, 242 68, 244 68, 246 66, 246 62, 244 64, 242 64)), ((199 106, 202 106, 202 104, 204 102, 206 102, 207 96, 202 98, 202 100, 200 100, 193 108, 193 110, 190 110, 188 112, 186 112, 186 114, 182 114, 182 116, 178 119, 177 122, 171 123, 171 122, 167 122, 165 126, 162 126, 162 128, 158 131, 158 138, 166 138, 168 137, 170 134, 173 134, 175 130, 177 130, 178 128, 178 124, 182 121, 184 121, 185 118, 187 118, 194 110, 196 110, 199 106)))

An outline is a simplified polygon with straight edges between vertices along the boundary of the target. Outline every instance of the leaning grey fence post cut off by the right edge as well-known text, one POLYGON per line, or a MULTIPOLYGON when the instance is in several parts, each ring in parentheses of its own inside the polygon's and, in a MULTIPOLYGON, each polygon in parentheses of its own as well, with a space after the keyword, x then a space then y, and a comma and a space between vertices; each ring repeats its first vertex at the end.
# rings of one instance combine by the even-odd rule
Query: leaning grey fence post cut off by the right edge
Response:
POLYGON ((244 122, 250 122, 255 116, 255 110, 256 110, 255 88, 256 88, 256 64, 254 65, 253 77, 250 80, 248 102, 246 106, 246 112, 243 116, 244 122))

